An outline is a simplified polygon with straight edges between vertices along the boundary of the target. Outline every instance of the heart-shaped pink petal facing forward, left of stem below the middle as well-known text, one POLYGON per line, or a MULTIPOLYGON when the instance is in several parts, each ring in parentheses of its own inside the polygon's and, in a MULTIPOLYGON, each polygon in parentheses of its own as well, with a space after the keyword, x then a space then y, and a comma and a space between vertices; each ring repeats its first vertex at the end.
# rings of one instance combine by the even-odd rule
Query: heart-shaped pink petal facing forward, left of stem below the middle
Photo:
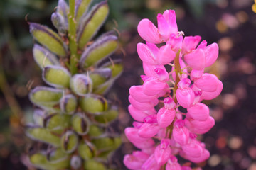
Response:
POLYGON ((174 109, 160 108, 157 113, 157 123, 161 128, 166 128, 171 125, 174 120, 176 112, 174 109))

